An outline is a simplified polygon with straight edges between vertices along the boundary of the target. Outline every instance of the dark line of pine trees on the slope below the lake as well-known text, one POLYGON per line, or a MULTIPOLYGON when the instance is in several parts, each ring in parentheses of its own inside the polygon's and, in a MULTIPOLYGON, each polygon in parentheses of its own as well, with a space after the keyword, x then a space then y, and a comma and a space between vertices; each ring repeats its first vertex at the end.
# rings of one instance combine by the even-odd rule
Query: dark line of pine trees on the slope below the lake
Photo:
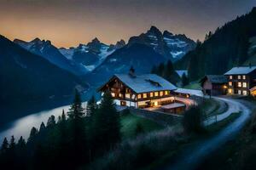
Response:
POLYGON ((3 139, 1 168, 9 169, 77 169, 102 156, 119 143, 119 113, 109 92, 100 105, 92 97, 86 108, 78 90, 69 111, 57 119, 50 116, 46 125, 32 127, 27 141, 21 136, 3 139))

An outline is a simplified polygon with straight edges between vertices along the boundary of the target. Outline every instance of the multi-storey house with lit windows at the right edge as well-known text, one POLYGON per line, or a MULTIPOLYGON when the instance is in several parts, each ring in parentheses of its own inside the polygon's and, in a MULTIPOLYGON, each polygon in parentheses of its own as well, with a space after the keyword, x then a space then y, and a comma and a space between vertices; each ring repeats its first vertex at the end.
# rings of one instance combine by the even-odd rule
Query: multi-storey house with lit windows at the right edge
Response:
POLYGON ((249 95, 254 93, 256 66, 234 67, 224 75, 228 78, 228 94, 249 95))

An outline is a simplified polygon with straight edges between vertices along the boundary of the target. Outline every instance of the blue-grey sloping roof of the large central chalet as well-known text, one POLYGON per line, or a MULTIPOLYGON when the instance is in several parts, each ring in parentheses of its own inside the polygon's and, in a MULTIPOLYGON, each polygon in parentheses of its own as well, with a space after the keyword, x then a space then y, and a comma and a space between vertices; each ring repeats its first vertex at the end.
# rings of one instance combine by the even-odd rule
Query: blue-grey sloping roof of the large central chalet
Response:
POLYGON ((155 74, 143 74, 131 76, 129 74, 115 74, 121 82, 131 88, 135 93, 141 94, 152 91, 175 90, 177 89, 171 82, 155 74))

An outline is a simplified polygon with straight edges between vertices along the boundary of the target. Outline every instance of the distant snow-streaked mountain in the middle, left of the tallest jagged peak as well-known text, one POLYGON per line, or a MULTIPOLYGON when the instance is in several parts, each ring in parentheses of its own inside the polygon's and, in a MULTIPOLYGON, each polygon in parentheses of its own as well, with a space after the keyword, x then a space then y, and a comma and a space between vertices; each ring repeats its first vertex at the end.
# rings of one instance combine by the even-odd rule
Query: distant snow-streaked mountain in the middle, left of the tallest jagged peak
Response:
POLYGON ((124 40, 117 42, 115 45, 108 46, 94 38, 87 44, 79 44, 77 48, 60 48, 59 50, 67 59, 71 59, 77 64, 82 64, 88 71, 92 71, 109 54, 112 54, 116 49, 122 48, 124 45, 124 40))

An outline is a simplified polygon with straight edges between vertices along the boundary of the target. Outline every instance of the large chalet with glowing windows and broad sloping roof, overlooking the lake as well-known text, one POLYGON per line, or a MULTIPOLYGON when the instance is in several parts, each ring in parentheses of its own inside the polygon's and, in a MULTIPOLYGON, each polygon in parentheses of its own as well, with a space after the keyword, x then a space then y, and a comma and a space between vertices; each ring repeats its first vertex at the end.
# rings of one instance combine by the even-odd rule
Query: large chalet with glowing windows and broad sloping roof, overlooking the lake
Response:
POLYGON ((172 91, 177 89, 171 82, 155 74, 115 74, 99 91, 109 91, 116 105, 145 108, 174 102, 172 91))

